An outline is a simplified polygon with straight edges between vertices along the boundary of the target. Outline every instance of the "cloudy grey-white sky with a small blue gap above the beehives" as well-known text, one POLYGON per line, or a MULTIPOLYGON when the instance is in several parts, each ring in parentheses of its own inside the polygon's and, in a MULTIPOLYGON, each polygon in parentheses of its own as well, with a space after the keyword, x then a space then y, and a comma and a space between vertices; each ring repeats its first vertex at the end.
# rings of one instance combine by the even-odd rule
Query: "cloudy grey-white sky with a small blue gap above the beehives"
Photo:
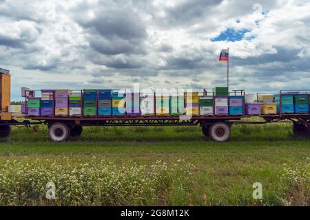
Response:
POLYGON ((0 67, 31 89, 310 89, 309 0, 0 0, 0 67))

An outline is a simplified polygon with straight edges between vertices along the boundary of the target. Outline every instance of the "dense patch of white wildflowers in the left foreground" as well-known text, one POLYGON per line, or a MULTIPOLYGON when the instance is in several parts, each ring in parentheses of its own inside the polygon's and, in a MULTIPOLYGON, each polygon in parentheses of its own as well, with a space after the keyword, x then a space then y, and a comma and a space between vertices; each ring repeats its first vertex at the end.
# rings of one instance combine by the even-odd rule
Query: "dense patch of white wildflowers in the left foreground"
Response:
POLYGON ((0 165, 1 206, 151 206, 182 203, 194 165, 116 165, 106 160, 8 160, 0 165), (56 197, 46 194, 54 184, 56 197))

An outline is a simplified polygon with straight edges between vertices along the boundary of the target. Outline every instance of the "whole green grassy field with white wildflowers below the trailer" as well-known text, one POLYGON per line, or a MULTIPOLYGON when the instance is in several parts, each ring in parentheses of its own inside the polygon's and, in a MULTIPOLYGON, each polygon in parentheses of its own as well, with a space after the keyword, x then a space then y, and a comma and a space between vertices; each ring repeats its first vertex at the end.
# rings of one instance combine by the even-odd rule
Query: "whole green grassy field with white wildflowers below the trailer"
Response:
POLYGON ((309 157, 289 123, 234 125, 226 143, 199 126, 90 127, 64 143, 14 128, 0 140, 0 205, 309 206, 309 157))

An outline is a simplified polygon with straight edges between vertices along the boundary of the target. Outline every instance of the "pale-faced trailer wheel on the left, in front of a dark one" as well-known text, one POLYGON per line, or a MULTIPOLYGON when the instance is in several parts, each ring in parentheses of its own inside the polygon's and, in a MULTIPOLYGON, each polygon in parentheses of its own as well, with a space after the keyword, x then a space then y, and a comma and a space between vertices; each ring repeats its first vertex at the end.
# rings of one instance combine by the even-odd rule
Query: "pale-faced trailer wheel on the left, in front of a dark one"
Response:
POLYGON ((62 122, 56 122, 48 129, 48 135, 53 142, 65 142, 70 137, 69 126, 62 122))

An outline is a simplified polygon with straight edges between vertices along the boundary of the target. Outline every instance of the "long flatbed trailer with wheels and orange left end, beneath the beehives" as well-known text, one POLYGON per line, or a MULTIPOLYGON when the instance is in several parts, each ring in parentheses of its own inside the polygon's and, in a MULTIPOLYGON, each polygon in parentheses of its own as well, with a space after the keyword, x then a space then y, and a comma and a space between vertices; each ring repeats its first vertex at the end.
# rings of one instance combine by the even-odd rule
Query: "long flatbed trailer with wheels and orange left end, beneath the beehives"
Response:
MULTIPOLYGON (((94 118, 81 117, 52 117, 29 116, 19 113, 9 113, 10 105, 10 72, 0 69, 1 86, 1 112, 0 112, 0 137, 8 137, 11 126, 33 126, 45 124, 48 126, 50 140, 63 142, 70 137, 77 137, 83 132, 84 126, 201 126, 202 133, 211 140, 226 142, 231 136, 231 126, 233 124, 265 124, 273 122, 292 122, 293 133, 295 135, 310 135, 310 115, 309 113, 282 114, 281 111, 276 115, 260 115, 263 122, 244 121, 243 118, 250 117, 245 115, 138 115, 138 116, 105 116, 94 118)), ((236 93, 236 91, 234 91, 236 93)), ((281 103, 280 91, 280 103, 281 103)), ((55 96, 53 96, 55 97, 55 96)), ((53 102, 54 103, 54 102, 53 102)), ((54 107, 53 107, 54 108, 54 107)), ((244 106, 243 106, 244 108, 244 106)), ((280 104, 281 108, 281 104, 280 104)), ((244 110, 244 109, 243 109, 244 110)))

